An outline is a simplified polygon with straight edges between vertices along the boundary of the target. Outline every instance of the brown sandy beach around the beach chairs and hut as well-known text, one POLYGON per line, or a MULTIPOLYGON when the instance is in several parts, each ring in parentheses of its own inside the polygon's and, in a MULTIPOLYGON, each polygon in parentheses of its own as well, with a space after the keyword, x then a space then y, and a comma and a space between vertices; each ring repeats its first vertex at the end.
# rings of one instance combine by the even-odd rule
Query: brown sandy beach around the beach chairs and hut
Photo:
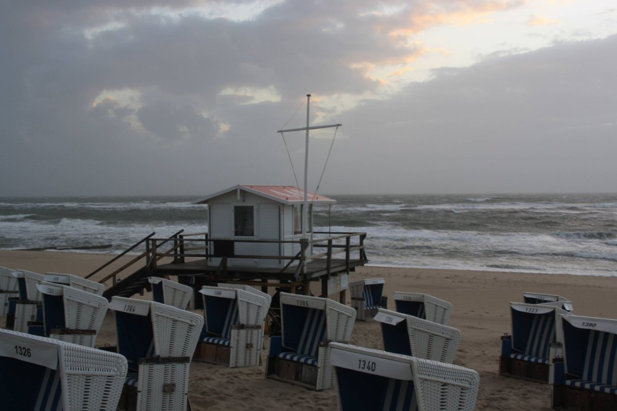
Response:
MULTIPOLYGON (((109 259, 110 256, 104 254, 0 251, 0 265, 39 273, 87 275, 109 259)), ((130 257, 125 257, 118 264, 128 259, 130 257)), ((617 318, 614 304, 617 281, 611 277, 361 267, 352 273, 350 281, 375 277, 386 279, 384 293, 390 309, 394 309, 394 291, 428 293, 452 302, 449 325, 462 333, 454 363, 473 368, 480 375, 477 410, 551 409, 548 385, 497 374, 500 336, 510 332, 508 303, 522 301, 524 291, 568 297, 573 301, 573 312, 579 315, 617 318)), ((106 343, 115 344, 110 313, 99 333, 97 346, 106 343)), ((351 343, 381 348, 378 323, 373 320, 356 322, 351 343)), ((194 362, 189 396, 194 410, 338 409, 336 389, 315 392, 266 379, 263 366, 226 368, 194 362)))

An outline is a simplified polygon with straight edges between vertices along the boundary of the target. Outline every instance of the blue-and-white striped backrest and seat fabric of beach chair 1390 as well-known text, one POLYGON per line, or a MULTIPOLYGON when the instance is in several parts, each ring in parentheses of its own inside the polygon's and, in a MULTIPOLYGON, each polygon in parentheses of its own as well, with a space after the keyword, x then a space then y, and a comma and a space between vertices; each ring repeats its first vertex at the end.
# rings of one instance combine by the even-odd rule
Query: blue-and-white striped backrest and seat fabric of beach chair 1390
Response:
POLYGON ((589 331, 587 351, 580 380, 566 384, 594 391, 617 394, 617 336, 603 331, 589 331))

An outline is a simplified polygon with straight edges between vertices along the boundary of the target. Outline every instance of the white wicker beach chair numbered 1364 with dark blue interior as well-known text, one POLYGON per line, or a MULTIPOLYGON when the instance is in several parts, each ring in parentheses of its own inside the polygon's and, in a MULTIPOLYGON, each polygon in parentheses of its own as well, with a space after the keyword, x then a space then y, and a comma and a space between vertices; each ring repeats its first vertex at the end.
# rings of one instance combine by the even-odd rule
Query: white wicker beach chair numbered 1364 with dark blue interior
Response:
POLYGON ((191 356, 201 315, 155 301, 112 297, 117 352, 129 372, 120 397, 127 411, 185 411, 191 356))

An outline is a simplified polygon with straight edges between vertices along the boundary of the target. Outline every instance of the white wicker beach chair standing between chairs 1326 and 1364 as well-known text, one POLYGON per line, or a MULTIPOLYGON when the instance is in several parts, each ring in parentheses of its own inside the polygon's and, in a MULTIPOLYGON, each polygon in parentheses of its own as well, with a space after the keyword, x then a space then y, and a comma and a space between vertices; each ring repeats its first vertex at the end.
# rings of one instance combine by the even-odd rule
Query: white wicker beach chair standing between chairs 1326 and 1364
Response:
POLYGON ((44 336, 80 346, 94 347, 96 335, 107 313, 107 299, 82 289, 43 281, 38 284, 43 296, 44 336))

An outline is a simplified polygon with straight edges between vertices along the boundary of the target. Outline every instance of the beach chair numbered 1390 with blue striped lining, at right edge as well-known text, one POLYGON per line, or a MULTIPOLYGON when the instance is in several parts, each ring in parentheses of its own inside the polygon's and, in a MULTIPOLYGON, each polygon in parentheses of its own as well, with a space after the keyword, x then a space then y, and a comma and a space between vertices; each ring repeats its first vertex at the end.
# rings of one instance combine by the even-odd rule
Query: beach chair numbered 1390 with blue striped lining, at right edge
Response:
POLYGON ((552 406, 617 410, 617 320, 561 315, 563 360, 552 365, 552 406))

